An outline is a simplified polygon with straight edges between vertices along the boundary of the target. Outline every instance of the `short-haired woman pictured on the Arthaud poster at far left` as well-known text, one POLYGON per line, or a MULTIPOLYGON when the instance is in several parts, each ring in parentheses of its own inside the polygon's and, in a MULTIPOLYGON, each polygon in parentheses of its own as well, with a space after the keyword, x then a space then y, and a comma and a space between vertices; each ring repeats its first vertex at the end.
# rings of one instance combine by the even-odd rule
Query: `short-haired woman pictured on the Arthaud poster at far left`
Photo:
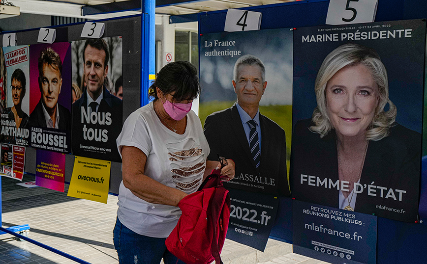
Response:
POLYGON ((10 80, 12 82, 11 95, 13 106, 4 109, 4 114, 8 114, 9 119, 15 121, 16 128, 28 128, 30 117, 22 110, 22 99, 25 96, 25 86, 27 84, 25 74, 21 69, 16 69, 12 73, 10 80))

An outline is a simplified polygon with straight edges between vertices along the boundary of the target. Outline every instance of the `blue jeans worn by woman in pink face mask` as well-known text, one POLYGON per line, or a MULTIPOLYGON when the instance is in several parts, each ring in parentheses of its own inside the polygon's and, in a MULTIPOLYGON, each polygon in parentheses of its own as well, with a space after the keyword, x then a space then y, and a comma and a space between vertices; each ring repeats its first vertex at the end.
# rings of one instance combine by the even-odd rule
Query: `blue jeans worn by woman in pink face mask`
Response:
POLYGON ((136 234, 116 220, 113 230, 114 247, 119 264, 185 264, 167 250, 166 238, 151 238, 136 234))

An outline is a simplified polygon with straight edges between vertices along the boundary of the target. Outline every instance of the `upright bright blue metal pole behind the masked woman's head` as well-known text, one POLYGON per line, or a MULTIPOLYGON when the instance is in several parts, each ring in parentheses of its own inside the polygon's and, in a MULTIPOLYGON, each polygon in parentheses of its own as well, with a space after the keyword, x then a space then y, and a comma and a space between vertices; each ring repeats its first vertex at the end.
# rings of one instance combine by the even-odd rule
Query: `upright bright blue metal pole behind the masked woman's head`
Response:
POLYGON ((141 106, 148 104, 148 88, 155 79, 155 0, 141 0, 141 106))

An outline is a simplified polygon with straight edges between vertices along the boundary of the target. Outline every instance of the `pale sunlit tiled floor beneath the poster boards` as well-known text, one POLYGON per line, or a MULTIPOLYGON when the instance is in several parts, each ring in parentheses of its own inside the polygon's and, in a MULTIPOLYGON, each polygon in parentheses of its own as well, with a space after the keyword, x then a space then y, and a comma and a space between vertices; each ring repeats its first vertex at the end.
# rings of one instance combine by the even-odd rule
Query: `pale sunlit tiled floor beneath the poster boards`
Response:
MULTIPOLYGON (((113 245, 117 197, 107 204, 76 199, 43 187, 25 188, 2 177, 3 227, 30 225, 28 237, 91 264, 118 264, 113 245)), ((23 182, 34 181, 25 175, 23 182)), ((320 264, 292 253, 292 246, 270 239, 264 253, 227 240, 224 264, 320 264)), ((9 234, 0 235, 0 264, 75 264, 76 262, 9 234)))

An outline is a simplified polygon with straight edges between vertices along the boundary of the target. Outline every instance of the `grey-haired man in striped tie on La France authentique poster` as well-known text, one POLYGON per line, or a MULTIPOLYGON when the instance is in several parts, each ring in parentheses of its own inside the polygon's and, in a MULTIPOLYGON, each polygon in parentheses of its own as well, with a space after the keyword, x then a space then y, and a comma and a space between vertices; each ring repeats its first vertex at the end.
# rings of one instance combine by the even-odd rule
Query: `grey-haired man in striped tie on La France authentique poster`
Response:
POLYGON ((232 85, 237 102, 205 121, 208 159, 219 155, 235 161, 236 176, 227 187, 289 196, 285 132, 259 112, 267 88, 263 62, 253 55, 240 57, 232 85))

